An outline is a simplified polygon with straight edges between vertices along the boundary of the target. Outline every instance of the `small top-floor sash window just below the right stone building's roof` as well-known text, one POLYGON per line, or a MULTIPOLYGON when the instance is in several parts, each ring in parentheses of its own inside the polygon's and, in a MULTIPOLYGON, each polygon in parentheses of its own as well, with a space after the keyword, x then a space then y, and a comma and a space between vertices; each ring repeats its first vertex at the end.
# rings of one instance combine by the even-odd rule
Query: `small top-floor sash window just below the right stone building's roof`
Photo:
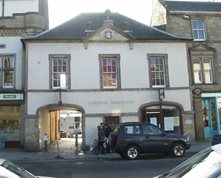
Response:
POLYGON ((205 27, 203 20, 192 20, 192 33, 194 41, 205 41, 205 27))

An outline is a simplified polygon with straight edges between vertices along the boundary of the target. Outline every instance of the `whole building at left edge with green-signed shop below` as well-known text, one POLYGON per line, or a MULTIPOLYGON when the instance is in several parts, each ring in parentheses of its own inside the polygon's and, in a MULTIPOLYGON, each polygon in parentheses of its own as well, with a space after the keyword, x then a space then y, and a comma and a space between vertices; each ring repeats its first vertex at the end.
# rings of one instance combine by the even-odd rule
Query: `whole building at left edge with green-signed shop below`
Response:
POLYGON ((46 29, 47 0, 0 1, 0 142, 5 147, 24 145, 25 141, 21 38, 46 29))

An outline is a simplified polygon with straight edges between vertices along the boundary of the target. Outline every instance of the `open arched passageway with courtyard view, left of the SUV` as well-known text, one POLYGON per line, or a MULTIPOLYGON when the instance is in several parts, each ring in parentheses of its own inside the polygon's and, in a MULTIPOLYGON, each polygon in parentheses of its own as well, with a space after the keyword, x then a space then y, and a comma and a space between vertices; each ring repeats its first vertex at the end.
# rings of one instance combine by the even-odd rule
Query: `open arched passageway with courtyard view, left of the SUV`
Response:
POLYGON ((72 104, 51 104, 37 110, 39 125, 39 147, 44 147, 44 135, 48 144, 56 140, 72 141, 78 134, 78 145, 85 143, 85 111, 81 106, 72 104))

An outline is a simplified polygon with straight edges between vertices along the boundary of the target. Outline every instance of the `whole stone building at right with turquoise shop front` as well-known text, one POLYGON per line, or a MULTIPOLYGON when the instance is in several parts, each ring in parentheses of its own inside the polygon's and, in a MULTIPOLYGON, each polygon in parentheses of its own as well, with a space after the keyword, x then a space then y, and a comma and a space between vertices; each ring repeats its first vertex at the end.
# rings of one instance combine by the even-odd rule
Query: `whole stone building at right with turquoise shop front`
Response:
POLYGON ((187 52, 196 138, 212 138, 221 132, 221 3, 153 2, 152 26, 193 38, 187 52))

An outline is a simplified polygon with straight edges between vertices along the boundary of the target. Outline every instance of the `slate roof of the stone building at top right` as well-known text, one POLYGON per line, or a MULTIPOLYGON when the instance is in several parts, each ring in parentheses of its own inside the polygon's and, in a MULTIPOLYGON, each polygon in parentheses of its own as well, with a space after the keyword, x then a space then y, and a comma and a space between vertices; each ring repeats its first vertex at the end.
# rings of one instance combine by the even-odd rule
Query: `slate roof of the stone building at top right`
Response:
POLYGON ((221 12, 220 2, 165 1, 169 11, 221 12))

